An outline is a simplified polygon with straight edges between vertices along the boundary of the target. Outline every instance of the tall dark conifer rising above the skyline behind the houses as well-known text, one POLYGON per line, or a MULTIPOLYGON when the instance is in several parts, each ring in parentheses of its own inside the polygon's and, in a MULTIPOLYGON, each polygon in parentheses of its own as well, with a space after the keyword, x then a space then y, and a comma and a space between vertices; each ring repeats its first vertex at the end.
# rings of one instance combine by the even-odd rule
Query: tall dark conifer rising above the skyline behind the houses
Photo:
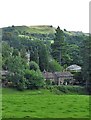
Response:
POLYGON ((60 27, 56 29, 54 43, 51 45, 52 48, 52 56, 53 58, 62 64, 62 53, 64 46, 64 33, 60 30, 60 27))

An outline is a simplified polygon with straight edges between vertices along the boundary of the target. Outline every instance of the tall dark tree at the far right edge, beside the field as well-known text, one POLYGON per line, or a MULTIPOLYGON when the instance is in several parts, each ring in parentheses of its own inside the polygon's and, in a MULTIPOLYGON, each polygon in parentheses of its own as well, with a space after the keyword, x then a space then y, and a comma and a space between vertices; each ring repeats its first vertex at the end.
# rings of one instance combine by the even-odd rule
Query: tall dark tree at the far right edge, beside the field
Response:
POLYGON ((91 76, 91 35, 86 37, 83 41, 83 46, 81 49, 81 55, 83 59, 82 64, 82 75, 83 81, 86 83, 86 88, 91 92, 90 87, 90 76, 91 76))

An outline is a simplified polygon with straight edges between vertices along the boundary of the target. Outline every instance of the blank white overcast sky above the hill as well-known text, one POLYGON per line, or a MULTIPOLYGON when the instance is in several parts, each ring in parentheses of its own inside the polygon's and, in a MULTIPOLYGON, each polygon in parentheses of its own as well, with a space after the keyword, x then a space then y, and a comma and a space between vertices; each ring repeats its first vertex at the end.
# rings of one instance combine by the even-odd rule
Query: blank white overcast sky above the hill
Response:
POLYGON ((53 25, 89 32, 89 0, 0 0, 0 28, 53 25))

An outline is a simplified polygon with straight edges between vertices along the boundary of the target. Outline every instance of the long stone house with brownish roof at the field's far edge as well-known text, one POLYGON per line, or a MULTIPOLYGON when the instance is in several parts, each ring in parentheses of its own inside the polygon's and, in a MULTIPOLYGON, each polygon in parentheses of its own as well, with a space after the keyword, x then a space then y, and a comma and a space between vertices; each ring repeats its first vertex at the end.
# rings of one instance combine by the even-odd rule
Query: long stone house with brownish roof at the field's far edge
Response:
POLYGON ((43 72, 43 76, 45 78, 45 81, 50 81, 50 84, 54 83, 56 85, 67 85, 67 84, 72 84, 74 79, 73 79, 73 74, 70 72, 43 72))

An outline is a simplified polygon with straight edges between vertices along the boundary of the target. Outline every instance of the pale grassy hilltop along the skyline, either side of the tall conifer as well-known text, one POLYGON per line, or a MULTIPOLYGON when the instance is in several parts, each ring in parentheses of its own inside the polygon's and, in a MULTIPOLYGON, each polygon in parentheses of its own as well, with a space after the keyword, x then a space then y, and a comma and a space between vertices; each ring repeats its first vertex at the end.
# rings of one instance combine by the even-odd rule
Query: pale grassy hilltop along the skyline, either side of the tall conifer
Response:
MULTIPOLYGON (((37 34, 54 34, 55 33, 55 27, 52 25, 39 25, 39 26, 11 26, 11 27, 5 27, 3 29, 8 28, 15 28, 19 32, 27 32, 27 33, 37 33, 37 34)), ((83 33, 81 31, 66 31, 64 30, 65 34, 68 34, 70 36, 72 35, 88 35, 87 33, 83 33)))

